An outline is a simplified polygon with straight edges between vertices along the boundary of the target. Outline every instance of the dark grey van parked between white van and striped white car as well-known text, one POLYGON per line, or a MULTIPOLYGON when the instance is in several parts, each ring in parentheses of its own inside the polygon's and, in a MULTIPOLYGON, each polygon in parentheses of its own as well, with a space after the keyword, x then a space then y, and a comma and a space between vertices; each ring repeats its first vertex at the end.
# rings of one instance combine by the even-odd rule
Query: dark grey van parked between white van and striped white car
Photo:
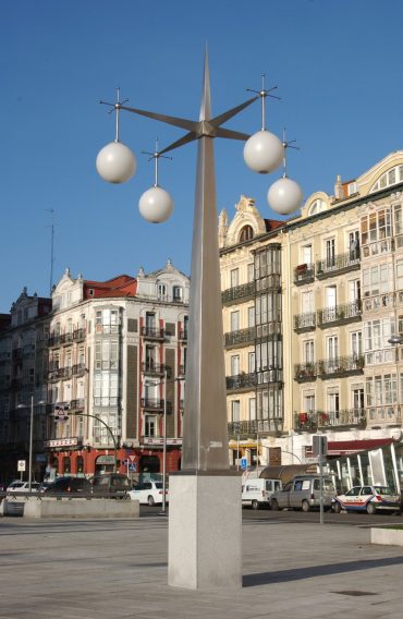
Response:
MULTIPOLYGON (((323 508, 331 509, 335 487, 331 477, 323 476, 323 508)), ((319 475, 296 475, 285 484, 282 490, 272 494, 270 499, 272 510, 302 509, 310 511, 320 507, 319 475)))

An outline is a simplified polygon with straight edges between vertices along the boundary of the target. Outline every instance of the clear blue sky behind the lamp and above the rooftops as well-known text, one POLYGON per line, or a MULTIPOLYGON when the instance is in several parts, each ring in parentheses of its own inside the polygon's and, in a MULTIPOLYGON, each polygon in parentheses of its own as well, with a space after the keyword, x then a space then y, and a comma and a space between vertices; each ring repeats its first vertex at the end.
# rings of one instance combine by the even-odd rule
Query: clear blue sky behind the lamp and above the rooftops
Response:
MULTIPOLYGON (((120 86, 130 106, 197 119, 203 59, 209 49, 212 111, 232 108, 277 85, 268 129, 288 128, 289 175, 304 197, 332 193, 337 174, 359 175, 403 147, 403 3, 401 0, 13 0, 0 2, 0 313, 23 287, 49 293, 50 223, 54 209, 57 282, 106 280, 163 266, 190 271, 195 144, 163 161, 160 184, 175 208, 163 224, 138 214, 154 183, 139 153, 163 147, 181 130, 122 113, 121 139, 137 156, 135 178, 108 185, 95 170, 114 136, 120 86)), ((225 126, 254 133, 259 104, 225 126)), ((230 217, 241 194, 274 217, 267 177, 243 162, 243 143, 216 141, 217 206, 230 217)))

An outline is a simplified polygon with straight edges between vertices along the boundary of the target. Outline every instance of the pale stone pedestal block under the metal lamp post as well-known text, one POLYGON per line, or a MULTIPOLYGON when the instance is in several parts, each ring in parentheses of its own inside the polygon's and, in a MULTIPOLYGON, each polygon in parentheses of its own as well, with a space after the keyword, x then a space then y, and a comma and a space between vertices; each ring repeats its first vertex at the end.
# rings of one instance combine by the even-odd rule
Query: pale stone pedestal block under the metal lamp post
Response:
POLYGON ((194 590, 240 588, 241 525, 240 476, 171 475, 168 583, 194 590))

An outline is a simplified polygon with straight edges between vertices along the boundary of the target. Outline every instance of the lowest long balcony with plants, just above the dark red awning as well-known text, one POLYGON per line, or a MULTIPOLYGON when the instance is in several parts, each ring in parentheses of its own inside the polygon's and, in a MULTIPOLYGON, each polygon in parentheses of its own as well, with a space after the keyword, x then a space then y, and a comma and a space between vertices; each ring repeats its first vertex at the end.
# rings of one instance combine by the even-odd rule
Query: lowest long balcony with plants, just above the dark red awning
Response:
POLYGON ((358 427, 365 428, 367 415, 365 409, 345 409, 342 411, 308 411, 295 415, 294 429, 316 432, 318 428, 358 427))

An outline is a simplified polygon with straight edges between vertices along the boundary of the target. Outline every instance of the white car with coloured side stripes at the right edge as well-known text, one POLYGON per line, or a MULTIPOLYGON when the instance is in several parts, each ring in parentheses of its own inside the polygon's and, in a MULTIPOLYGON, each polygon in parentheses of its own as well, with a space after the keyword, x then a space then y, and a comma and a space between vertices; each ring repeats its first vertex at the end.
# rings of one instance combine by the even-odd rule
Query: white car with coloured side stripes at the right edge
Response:
POLYGON ((401 497, 388 486, 353 486, 344 495, 333 498, 332 508, 337 513, 345 511, 366 511, 375 513, 381 510, 401 511, 401 497))

